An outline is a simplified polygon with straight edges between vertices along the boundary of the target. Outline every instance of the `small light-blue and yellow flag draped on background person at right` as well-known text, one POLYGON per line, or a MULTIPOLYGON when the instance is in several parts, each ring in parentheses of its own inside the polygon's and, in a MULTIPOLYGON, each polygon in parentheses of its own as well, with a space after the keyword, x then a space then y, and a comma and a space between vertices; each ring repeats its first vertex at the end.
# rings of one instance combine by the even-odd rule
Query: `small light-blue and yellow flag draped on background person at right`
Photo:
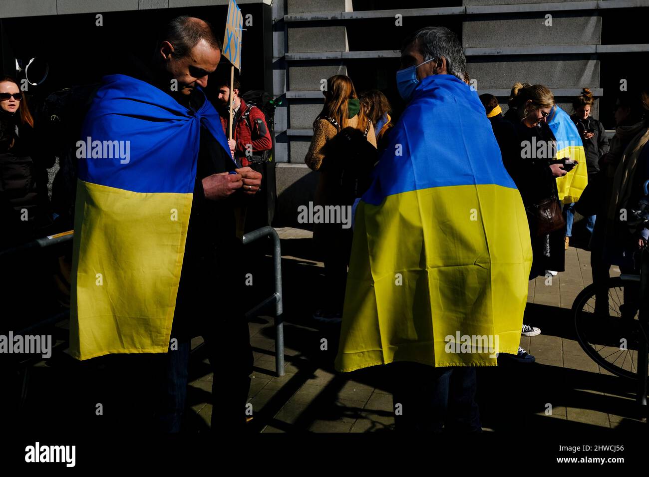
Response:
POLYGON ((559 200, 564 204, 577 202, 588 184, 586 155, 582 138, 567 112, 555 104, 548 126, 557 141, 557 159, 571 158, 579 164, 565 176, 557 177, 559 200))

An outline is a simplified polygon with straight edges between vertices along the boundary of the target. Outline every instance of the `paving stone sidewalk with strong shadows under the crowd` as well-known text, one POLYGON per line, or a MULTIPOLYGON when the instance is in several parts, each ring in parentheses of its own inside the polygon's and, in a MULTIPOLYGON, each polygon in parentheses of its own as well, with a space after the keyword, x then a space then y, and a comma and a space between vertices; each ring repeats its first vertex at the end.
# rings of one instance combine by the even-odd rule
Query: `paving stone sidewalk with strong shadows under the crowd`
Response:
MULTIPOLYGON (((304 291, 322 270, 322 263, 310 256, 312 232, 276 230, 284 254, 286 374, 275 375, 272 319, 255 319, 250 323, 254 350, 251 431, 393 430, 392 397, 382 367, 336 373, 333 360, 339 326, 323 326, 311 317, 313 301, 304 291), (328 340, 328 350, 321 350, 323 338, 328 340)), ((592 282, 589 252, 570 247, 565 269, 551 284, 545 277, 530 282, 528 302, 532 305, 526 321, 539 326, 542 334, 522 337, 520 345, 535 356, 536 363, 478 371, 478 402, 485 431, 646 426, 637 415, 633 385, 601 369, 574 340, 569 309, 576 295, 592 282), (493 392, 496 389, 500 392, 493 392)), ((613 267, 611 275, 618 274, 613 267)), ((193 344, 200 341, 197 338, 193 344)), ((194 415, 190 414, 186 427, 205 428, 212 413, 207 401, 215 377, 212 373, 192 374, 195 379, 190 386, 207 392, 197 394, 204 402, 189 403, 194 415)))

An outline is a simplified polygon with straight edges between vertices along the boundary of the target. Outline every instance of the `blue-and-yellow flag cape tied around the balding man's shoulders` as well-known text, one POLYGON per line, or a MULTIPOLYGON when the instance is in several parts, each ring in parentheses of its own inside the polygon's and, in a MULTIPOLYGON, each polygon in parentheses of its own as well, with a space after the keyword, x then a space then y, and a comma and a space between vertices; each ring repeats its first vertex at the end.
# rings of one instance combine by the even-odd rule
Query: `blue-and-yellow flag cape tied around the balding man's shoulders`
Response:
POLYGON ((147 82, 104 77, 77 143, 86 151, 77 151, 70 310, 75 358, 167 351, 201 125, 229 154, 207 99, 199 110, 188 110, 147 82))

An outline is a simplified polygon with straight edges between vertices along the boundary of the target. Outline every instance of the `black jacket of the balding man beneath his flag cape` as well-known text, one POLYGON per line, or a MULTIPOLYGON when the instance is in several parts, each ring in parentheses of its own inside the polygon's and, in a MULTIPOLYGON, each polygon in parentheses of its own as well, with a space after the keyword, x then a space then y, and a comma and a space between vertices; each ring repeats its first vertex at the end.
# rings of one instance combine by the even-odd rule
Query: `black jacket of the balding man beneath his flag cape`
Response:
MULTIPOLYGON (((158 79, 146 64, 131 57, 127 65, 129 76, 168 91, 167 84, 158 79)), ((198 110, 204 101, 203 93, 194 90, 184 106, 198 110)), ((212 174, 234 171, 236 165, 229 151, 201 127, 196 179, 191 202, 190 223, 187 230, 172 336, 193 337, 216 326, 218 320, 236 319, 236 313, 245 312, 236 300, 240 293, 246 269, 241 264, 241 241, 236 236, 235 210, 247 204, 250 196, 238 190, 228 199, 212 201, 205 198, 202 179, 212 174), (239 278, 241 278, 239 280, 239 278), (232 308, 231 306, 237 306, 232 308)), ((237 317, 243 319, 243 317, 237 317)))

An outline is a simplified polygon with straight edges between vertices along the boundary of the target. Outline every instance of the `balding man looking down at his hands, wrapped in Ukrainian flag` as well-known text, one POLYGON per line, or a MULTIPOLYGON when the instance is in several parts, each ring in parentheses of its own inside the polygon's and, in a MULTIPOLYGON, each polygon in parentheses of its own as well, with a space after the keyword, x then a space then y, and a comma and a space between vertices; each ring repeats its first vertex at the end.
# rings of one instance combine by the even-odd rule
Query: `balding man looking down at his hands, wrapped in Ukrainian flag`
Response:
POLYGON ((82 134, 125 140, 130 157, 80 160, 71 352, 80 360, 130 354, 134 369, 143 358, 134 354, 154 353, 146 361, 154 369, 144 370, 152 376, 164 358, 164 390, 154 388, 164 397, 156 422, 167 432, 180 430, 190 341, 199 335, 210 363, 223 363, 212 429, 246 422, 252 350, 236 300, 244 259, 234 207, 256 193, 261 175, 237 167, 202 91, 220 60, 208 23, 171 20, 148 62, 133 58, 127 74, 104 77, 82 134))

